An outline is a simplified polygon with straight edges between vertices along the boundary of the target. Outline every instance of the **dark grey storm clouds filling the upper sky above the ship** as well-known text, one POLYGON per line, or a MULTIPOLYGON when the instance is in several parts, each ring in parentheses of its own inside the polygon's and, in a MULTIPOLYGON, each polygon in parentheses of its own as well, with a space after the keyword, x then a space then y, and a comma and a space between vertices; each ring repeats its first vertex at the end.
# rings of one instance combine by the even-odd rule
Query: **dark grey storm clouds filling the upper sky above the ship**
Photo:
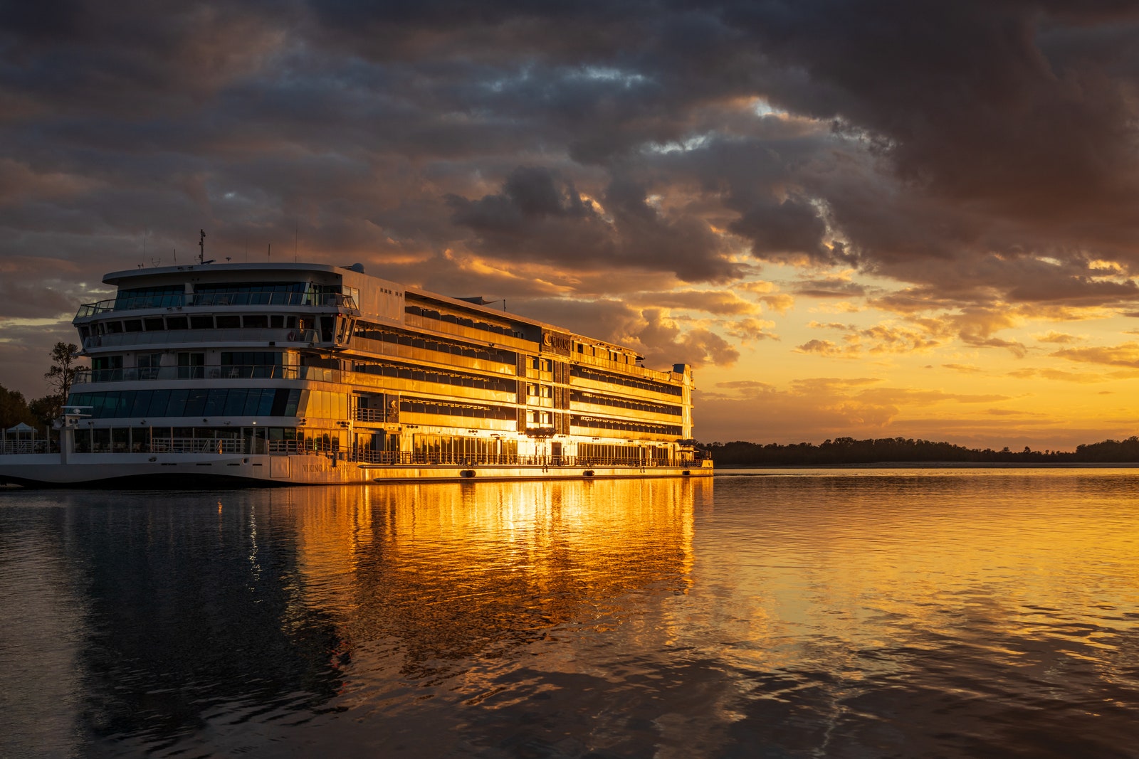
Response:
POLYGON ((0 0, 0 256, 72 278, 8 273, 57 295, 0 317, 200 228, 425 287, 477 259, 511 297, 550 292, 536 266, 727 284, 741 245, 907 313, 1120 306, 1137 42, 1123 2, 0 0))

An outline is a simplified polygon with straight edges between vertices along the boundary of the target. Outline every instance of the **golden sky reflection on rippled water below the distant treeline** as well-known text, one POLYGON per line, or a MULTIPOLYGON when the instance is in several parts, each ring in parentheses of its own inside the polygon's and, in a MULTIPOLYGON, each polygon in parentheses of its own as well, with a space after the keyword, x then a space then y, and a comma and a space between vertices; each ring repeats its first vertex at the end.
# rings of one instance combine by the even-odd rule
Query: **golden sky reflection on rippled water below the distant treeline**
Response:
POLYGON ((937 652, 959 688, 1001 687, 970 679, 981 662, 1005 685, 1051 687, 1072 660, 1113 678, 1137 663, 1137 496, 1131 471, 726 479, 694 577, 734 600, 713 626, 741 667, 850 683, 937 652))

